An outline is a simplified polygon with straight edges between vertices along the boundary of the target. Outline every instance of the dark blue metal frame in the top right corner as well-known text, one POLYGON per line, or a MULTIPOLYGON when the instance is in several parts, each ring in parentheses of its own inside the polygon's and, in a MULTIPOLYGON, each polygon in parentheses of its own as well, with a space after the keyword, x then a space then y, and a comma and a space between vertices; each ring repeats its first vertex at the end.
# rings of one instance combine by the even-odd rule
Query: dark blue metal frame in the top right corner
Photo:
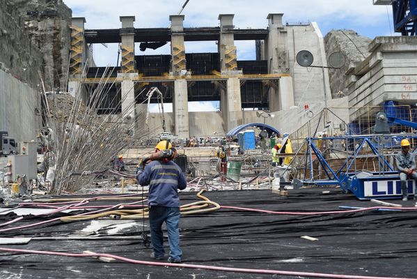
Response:
POLYGON ((393 0, 392 6, 395 32, 401 32, 402 36, 415 36, 417 0, 393 0))

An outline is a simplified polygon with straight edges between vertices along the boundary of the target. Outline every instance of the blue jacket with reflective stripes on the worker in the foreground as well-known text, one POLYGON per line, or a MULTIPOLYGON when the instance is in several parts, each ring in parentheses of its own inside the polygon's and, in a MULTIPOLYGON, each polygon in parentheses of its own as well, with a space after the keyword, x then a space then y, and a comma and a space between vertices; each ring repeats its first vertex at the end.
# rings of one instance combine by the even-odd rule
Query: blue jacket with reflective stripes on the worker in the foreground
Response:
POLYGON ((152 161, 141 174, 138 174, 137 179, 141 186, 149 185, 150 206, 180 207, 178 189, 184 190, 187 181, 177 164, 172 161, 152 161))

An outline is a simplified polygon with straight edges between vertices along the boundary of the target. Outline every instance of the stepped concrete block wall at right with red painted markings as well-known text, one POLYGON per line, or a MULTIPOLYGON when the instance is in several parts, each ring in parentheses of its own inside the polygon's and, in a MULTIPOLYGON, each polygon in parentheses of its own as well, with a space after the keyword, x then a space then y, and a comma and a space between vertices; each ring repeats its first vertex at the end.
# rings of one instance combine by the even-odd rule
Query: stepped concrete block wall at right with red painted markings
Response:
POLYGON ((370 43, 370 56, 348 71, 347 88, 351 120, 363 106, 386 100, 416 105, 417 38, 377 37, 370 43))

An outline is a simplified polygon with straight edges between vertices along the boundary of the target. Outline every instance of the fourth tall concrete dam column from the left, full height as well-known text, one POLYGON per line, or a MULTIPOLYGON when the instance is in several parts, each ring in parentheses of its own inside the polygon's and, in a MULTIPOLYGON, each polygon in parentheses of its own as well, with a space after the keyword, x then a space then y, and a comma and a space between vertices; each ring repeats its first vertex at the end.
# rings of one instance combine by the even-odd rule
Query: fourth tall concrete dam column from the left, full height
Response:
POLYGON ((240 96, 240 81, 237 75, 237 55, 235 36, 233 34, 233 17, 235 15, 219 15, 220 38, 219 57, 221 75, 228 76, 226 88, 220 91, 220 110, 223 114, 226 133, 243 123, 242 98, 240 96))

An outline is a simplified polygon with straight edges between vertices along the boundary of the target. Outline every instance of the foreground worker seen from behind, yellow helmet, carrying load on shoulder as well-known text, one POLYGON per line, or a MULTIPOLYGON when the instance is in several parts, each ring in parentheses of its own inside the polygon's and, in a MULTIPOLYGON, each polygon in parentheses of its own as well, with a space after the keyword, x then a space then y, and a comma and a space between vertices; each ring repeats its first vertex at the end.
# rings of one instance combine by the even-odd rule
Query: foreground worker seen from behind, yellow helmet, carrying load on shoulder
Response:
POLYGON ((164 258, 164 234, 162 224, 165 222, 168 231, 168 243, 171 249, 168 262, 181 262, 180 248, 180 197, 178 189, 184 190, 187 186, 184 174, 180 167, 173 162, 175 151, 166 140, 155 146, 152 161, 145 168, 139 169, 136 178, 141 186, 149 185, 148 206, 150 240, 153 252, 152 259, 164 258))

